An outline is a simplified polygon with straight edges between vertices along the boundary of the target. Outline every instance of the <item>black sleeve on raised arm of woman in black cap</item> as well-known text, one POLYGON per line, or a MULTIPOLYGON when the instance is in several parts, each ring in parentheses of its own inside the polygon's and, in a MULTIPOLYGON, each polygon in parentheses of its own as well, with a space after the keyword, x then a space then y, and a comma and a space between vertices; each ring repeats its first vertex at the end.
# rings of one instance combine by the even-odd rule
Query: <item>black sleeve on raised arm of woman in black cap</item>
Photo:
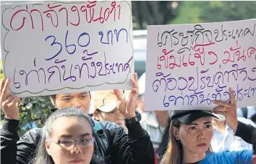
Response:
POLYGON ((243 122, 238 122, 238 127, 234 135, 241 137, 245 142, 252 144, 252 132, 255 130, 250 124, 244 124, 243 122))

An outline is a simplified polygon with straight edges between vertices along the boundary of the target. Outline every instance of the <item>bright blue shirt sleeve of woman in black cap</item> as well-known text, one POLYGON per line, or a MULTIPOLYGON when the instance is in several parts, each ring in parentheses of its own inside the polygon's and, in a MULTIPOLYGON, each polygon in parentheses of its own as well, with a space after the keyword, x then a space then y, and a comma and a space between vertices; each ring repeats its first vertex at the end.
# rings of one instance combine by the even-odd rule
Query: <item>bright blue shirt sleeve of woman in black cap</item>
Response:
POLYGON ((239 164, 251 164, 252 163, 252 150, 243 151, 224 151, 223 161, 226 159, 226 163, 239 163, 239 164))

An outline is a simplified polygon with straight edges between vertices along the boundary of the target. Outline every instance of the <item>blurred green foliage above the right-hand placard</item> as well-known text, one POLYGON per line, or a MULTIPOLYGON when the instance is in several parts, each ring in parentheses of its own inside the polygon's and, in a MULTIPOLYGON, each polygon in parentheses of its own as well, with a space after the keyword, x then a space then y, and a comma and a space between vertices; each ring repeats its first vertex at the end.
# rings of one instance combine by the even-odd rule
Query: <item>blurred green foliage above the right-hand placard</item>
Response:
POLYGON ((256 18, 256 1, 182 1, 169 24, 226 22, 256 18))

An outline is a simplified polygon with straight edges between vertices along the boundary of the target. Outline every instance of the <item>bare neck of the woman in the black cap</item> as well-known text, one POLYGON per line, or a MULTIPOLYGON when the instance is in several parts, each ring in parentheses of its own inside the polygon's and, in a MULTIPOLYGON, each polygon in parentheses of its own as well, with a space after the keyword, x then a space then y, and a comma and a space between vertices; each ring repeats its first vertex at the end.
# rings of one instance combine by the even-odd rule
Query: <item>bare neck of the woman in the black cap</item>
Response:
POLYGON ((193 153, 183 147, 183 155, 184 155, 184 157, 183 157, 184 163, 196 163, 200 160, 203 160, 205 158, 206 154, 205 153, 202 153, 202 154, 193 153))

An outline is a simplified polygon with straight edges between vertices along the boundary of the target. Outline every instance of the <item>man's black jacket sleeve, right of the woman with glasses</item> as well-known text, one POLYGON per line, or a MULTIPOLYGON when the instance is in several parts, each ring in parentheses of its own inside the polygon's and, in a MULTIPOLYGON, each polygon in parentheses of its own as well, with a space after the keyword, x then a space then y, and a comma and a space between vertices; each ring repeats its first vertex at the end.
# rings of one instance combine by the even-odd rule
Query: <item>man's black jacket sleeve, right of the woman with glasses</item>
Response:
POLYGON ((114 163, 154 164, 155 152, 148 132, 140 125, 127 124, 128 135, 121 128, 114 130, 112 151, 114 163))

